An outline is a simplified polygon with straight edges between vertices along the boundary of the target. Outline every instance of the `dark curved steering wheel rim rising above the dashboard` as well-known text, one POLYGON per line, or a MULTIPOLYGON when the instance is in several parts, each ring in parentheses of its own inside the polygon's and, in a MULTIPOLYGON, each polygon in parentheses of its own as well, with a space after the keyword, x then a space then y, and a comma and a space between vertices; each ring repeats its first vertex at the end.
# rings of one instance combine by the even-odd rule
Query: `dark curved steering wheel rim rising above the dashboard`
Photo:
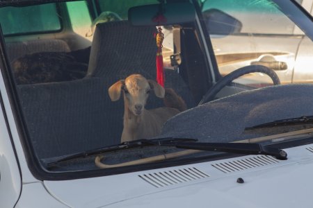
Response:
POLYGON ((223 89, 223 87, 232 83, 232 81, 235 80, 236 78, 239 78, 247 73, 253 72, 266 73, 266 75, 268 75, 273 80, 274 85, 280 85, 280 78, 278 78, 277 74, 273 69, 264 67, 262 65, 248 65, 246 67, 236 69, 235 71, 232 71, 231 73, 227 74, 227 76, 224 76, 223 78, 218 80, 218 82, 213 87, 211 87, 206 94, 204 94, 203 98, 201 99, 198 105, 202 105, 203 103, 212 101, 216 94, 220 92, 220 89, 223 89))

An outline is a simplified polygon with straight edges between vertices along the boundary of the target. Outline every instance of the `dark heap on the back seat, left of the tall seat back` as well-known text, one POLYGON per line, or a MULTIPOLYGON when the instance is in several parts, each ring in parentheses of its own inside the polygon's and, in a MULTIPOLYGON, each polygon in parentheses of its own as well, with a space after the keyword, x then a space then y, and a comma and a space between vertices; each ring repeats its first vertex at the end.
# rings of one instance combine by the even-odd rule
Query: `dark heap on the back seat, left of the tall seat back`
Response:
POLYGON ((18 85, 62 82, 86 76, 90 47, 71 52, 24 55, 11 64, 18 85))

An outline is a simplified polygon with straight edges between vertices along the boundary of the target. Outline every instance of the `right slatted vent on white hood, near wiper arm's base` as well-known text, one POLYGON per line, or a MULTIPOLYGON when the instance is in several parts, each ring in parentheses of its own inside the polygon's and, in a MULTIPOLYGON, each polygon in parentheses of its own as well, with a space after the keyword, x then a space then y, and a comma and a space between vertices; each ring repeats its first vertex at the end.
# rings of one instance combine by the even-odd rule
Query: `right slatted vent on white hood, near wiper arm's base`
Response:
POLYGON ((267 155, 258 155, 255 157, 248 157, 245 159, 237 159, 229 162, 221 162, 212 164, 214 168, 217 168, 223 173, 232 173, 235 171, 243 171, 249 168, 255 168, 259 166, 266 166, 269 164, 275 164, 280 162, 278 159, 267 155))

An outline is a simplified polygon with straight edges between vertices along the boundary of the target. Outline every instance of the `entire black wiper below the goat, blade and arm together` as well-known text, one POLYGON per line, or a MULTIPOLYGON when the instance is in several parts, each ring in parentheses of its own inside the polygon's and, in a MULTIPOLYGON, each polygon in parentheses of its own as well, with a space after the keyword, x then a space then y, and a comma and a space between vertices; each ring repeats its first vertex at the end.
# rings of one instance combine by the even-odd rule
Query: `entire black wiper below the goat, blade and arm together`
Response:
POLYGON ((279 148, 262 146, 257 143, 208 143, 196 142, 198 139, 187 138, 161 138, 161 139, 138 139, 135 141, 127 141, 117 146, 108 146, 95 150, 83 151, 74 155, 64 157, 56 162, 50 162, 47 166, 54 166, 61 162, 67 162, 72 159, 100 155, 118 150, 137 148, 143 146, 175 146, 176 148, 184 148, 191 150, 205 150, 225 153, 235 153, 240 155, 271 155, 277 159, 287 159, 287 153, 279 148))

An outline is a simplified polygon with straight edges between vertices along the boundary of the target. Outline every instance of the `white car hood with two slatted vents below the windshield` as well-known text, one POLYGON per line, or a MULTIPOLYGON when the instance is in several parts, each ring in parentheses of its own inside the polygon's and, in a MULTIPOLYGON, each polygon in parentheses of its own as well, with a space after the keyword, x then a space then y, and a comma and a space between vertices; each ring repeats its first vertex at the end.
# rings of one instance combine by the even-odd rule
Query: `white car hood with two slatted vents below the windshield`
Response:
POLYGON ((285 150, 44 185, 70 207, 310 207, 313 145, 285 150))

